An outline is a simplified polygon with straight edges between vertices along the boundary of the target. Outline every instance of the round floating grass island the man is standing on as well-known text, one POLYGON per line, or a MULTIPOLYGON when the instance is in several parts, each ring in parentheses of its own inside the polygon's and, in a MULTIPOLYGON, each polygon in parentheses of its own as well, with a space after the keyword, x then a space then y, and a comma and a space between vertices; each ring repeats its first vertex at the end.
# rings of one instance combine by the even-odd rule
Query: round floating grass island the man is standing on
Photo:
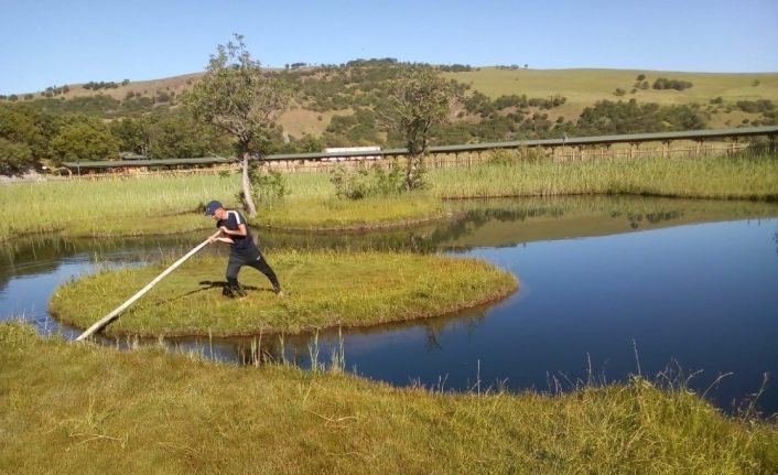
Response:
MULTIPOLYGON (((221 294, 226 257, 191 259, 108 326, 108 334, 234 336, 367 326, 437 316, 514 292, 516 277, 475 258, 390 252, 284 251, 268 256, 285 296, 244 268, 247 296, 221 294)), ((165 263, 105 270, 57 289, 50 311, 88 327, 165 263)))

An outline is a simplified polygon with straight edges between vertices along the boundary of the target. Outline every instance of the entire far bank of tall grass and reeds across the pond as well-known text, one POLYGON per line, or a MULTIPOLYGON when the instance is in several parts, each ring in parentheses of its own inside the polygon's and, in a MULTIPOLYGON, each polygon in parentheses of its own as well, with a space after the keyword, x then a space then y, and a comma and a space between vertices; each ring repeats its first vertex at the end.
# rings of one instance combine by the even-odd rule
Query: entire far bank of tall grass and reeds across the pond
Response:
MULTIPOLYGON (((599 159, 431 170, 411 196, 345 201, 328 173, 284 174, 291 194, 259 204, 256 225, 290 229, 378 228, 440 218, 443 197, 647 194, 694 198, 778 198, 778 158, 599 159)), ((219 198, 237 206, 239 176, 119 179, 0 186, 0 240, 21 235, 172 234, 213 223, 199 215, 219 198)))

